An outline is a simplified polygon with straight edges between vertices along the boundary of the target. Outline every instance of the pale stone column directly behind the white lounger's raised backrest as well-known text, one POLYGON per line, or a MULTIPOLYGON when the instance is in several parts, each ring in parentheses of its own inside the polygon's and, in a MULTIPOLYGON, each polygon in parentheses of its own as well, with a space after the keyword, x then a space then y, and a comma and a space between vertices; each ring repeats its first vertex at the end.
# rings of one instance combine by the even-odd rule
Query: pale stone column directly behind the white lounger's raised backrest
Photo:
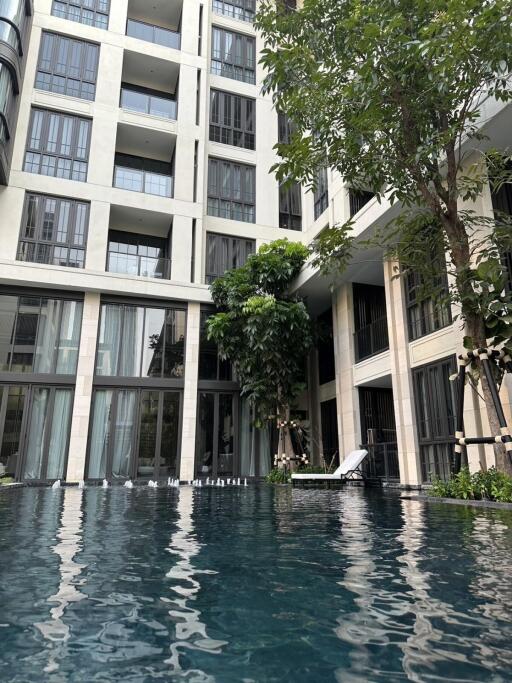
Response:
POLYGON ((340 462, 361 443, 358 391, 354 387, 354 315, 352 286, 342 285, 333 296, 334 358, 340 462))

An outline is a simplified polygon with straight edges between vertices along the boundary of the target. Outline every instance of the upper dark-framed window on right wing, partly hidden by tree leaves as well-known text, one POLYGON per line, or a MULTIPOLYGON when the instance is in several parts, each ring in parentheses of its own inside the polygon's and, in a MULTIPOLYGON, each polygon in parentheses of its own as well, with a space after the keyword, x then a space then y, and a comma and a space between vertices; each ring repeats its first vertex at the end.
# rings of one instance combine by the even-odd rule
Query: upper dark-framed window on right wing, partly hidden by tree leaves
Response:
MULTIPOLYGON (((441 274, 432 282, 435 289, 448 290, 448 281, 443 262, 439 260, 441 274)), ((436 301, 431 296, 425 296, 425 281, 418 272, 409 272, 405 276, 405 301, 407 306, 407 323, 409 327, 409 341, 420 339, 436 330, 447 327, 452 322, 450 305, 436 301)))

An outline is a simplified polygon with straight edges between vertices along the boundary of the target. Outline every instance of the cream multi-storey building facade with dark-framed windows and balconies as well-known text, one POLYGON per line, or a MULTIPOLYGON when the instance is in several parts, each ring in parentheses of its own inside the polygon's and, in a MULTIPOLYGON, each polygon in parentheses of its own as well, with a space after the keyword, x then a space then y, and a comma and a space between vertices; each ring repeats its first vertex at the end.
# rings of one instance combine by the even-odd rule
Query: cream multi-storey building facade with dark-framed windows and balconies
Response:
MULTIPOLYGON (((1 476, 271 467, 205 337, 208 285, 264 242, 309 243, 351 215, 364 236, 395 209, 328 169, 314 193, 269 174, 289 126, 261 94, 254 12, 255 0, 0 2, 1 476)), ((510 115, 487 120, 505 146, 510 115)), ((330 330, 300 406, 316 461, 370 443, 378 476, 446 473, 461 334, 415 286, 378 253, 332 295, 300 276, 330 330)))

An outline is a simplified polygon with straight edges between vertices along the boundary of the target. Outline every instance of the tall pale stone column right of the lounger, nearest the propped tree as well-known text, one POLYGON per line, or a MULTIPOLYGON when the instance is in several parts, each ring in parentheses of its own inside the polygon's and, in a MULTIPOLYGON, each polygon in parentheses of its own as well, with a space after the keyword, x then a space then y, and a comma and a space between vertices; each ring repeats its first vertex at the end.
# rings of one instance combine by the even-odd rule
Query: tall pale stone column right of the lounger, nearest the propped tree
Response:
POLYGON ((395 267, 395 262, 384 261, 384 285, 386 289, 398 463, 400 467, 400 482, 415 486, 421 483, 419 446, 403 289, 401 280, 395 277, 395 267))

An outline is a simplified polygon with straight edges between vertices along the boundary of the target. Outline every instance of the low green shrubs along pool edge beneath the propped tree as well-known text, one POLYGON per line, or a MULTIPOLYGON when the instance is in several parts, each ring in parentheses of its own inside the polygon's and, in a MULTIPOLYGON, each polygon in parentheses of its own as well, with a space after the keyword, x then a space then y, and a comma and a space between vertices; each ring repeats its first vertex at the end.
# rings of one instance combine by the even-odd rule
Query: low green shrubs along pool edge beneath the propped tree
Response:
POLYGON ((487 472, 471 474, 467 467, 449 481, 435 479, 430 494, 439 498, 491 500, 512 503, 512 477, 491 467, 487 472))

